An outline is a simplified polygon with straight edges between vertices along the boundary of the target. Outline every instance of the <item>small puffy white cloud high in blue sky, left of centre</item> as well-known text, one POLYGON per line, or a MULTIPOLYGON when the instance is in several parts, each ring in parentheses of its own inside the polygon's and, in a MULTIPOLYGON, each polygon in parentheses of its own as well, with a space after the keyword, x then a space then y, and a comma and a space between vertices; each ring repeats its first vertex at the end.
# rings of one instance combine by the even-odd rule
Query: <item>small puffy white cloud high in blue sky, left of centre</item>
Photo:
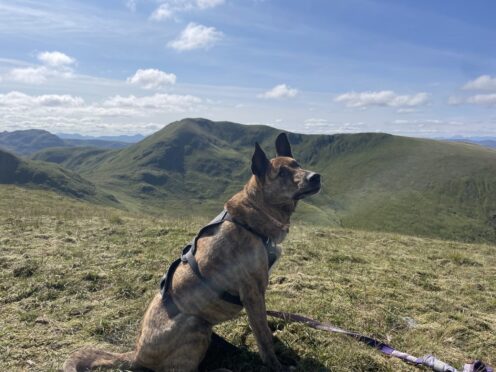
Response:
POLYGON ((204 48, 208 49, 223 37, 222 32, 214 27, 207 27, 196 23, 190 23, 181 32, 176 40, 167 44, 170 48, 178 51, 204 48))

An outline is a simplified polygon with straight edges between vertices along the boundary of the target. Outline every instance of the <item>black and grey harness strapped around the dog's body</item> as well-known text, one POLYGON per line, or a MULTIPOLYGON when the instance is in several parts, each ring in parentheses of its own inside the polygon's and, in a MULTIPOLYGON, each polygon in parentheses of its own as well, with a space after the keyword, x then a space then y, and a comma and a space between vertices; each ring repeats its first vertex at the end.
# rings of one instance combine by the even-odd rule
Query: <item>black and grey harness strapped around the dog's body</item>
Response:
POLYGON ((165 308, 167 310, 167 313, 171 318, 175 317, 177 314, 180 313, 179 308, 177 305, 174 303, 174 300, 172 299, 172 296, 169 292, 169 289, 172 284, 172 277, 174 276, 174 272, 176 271, 177 267, 180 264, 189 264, 195 275, 200 279, 200 281, 205 284, 207 287, 212 289, 217 295, 219 296, 220 299, 229 302, 234 305, 238 306, 243 306, 243 303, 241 302, 241 299, 239 296, 235 296, 222 288, 218 288, 216 285, 212 283, 211 280, 208 278, 205 278, 202 273, 200 272, 200 268, 198 267, 198 262, 196 261, 195 258, 195 253, 196 253, 196 243, 198 239, 202 236, 202 234, 209 228, 213 226, 220 225, 224 221, 230 221, 232 223, 235 223, 238 226, 241 226, 242 228, 248 230, 252 234, 255 234, 257 237, 259 237, 265 247, 265 250, 267 251, 267 258, 269 262, 269 269, 272 267, 274 262, 277 260, 277 251, 276 251, 276 246, 273 243, 273 241, 258 233, 257 231, 253 230, 250 226, 236 220, 232 215, 229 214, 227 210, 224 209, 222 213, 220 213, 217 217, 215 217, 212 221, 210 221, 207 225, 203 226, 200 231, 198 231, 198 234, 193 238, 191 242, 189 242, 182 251, 181 257, 175 260, 170 266, 167 272, 164 274, 162 279, 160 280, 160 293, 162 294, 162 300, 164 302, 165 308))

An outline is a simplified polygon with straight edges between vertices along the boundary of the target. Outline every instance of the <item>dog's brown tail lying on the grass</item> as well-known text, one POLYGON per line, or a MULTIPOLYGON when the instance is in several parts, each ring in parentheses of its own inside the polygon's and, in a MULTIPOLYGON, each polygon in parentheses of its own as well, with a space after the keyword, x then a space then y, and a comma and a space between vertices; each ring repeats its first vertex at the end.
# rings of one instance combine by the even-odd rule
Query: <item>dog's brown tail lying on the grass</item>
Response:
POLYGON ((111 353, 109 351, 85 348, 79 349, 65 361, 64 372, 83 372, 96 367, 119 368, 128 371, 136 370, 136 353, 111 353))

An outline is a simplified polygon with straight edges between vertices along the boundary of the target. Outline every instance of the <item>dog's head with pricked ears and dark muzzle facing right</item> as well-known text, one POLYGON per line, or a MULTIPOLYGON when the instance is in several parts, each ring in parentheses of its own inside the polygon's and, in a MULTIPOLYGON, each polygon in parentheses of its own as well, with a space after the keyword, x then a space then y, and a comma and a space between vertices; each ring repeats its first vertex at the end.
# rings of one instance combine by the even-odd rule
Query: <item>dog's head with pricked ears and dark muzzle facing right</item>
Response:
POLYGON ((277 157, 269 160, 256 143, 252 157, 251 170, 267 202, 281 206, 295 204, 320 191, 320 174, 303 169, 293 158, 286 133, 277 137, 276 153, 277 157))

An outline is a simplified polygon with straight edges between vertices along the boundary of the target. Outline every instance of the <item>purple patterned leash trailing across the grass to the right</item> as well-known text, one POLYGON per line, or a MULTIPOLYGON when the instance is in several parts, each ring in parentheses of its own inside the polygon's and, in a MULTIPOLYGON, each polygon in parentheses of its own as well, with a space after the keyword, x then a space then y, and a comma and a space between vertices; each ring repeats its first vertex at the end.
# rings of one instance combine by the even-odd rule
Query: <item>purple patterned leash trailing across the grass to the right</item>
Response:
MULTIPOLYGON (((355 332, 350 332, 342 328, 334 327, 329 324, 321 323, 316 320, 297 315, 297 314, 291 314, 291 313, 286 313, 283 311, 267 311, 267 315, 273 316, 275 318, 280 318, 285 321, 292 321, 292 322, 298 322, 298 323, 304 323, 307 326, 314 328, 314 329, 320 329, 322 331, 327 331, 331 333, 341 333, 346 336, 350 336, 355 338, 356 340, 373 347, 374 349, 379 350, 381 353, 384 355, 390 356, 390 357, 395 357, 398 359, 401 359, 402 361, 412 364, 414 366, 420 367, 420 366, 425 366, 429 367, 433 371, 436 372, 460 372, 456 368, 450 366, 449 364, 436 359, 432 355, 426 355, 423 356, 422 358, 417 358, 414 357, 413 355, 403 353, 401 351, 396 350, 395 348, 389 346, 388 344, 385 344, 383 342, 380 342, 376 339, 373 339, 368 336, 361 335, 359 333, 355 332)), ((471 364, 465 364, 463 367, 463 370, 461 372, 494 372, 493 368, 490 366, 485 365, 481 361, 477 360, 474 363, 471 364)))

